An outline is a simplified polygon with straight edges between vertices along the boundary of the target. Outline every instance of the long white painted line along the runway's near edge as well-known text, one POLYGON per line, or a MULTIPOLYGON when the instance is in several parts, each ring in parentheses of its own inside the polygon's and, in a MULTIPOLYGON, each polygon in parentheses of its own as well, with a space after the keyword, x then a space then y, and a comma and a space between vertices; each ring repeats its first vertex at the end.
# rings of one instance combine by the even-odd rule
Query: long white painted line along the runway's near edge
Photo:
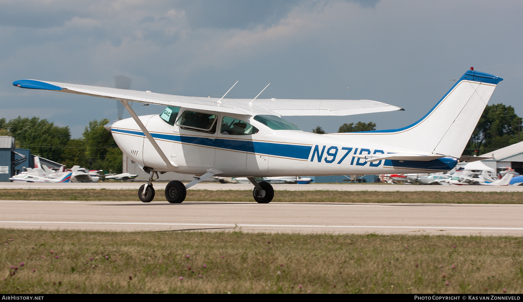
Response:
POLYGON ((0 221, 21 224, 96 224, 96 225, 166 225, 166 226, 224 226, 224 227, 312 227, 312 228, 409 228, 409 229, 475 229, 475 230, 523 230, 507 227, 450 227, 450 226, 345 226, 345 225, 279 225, 279 224, 200 224, 200 223, 133 223, 133 222, 55 222, 55 221, 0 221))

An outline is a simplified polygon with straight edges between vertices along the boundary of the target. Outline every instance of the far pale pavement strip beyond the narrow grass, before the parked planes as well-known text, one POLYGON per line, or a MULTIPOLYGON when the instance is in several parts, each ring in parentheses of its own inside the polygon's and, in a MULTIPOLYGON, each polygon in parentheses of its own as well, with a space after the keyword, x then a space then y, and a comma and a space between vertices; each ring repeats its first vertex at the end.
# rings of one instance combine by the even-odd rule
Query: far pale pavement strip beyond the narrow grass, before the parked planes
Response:
MULTIPOLYGON (((138 190, 144 182, 97 182, 97 183, 28 183, 4 182, 0 189, 107 189, 138 190)), ((167 183, 154 183, 155 190, 165 190, 167 183)), ((523 185, 405 185, 405 184, 273 184, 275 191, 438 191, 438 192, 523 192, 523 185)), ((188 190, 252 190, 252 184, 199 183, 188 190)))

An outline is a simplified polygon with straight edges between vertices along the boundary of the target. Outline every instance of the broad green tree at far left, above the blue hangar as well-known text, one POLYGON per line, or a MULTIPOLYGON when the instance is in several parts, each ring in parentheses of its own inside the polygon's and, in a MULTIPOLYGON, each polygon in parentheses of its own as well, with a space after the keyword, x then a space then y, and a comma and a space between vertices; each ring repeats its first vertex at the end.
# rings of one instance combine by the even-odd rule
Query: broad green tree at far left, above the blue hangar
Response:
POLYGON ((7 130, 15 137, 17 147, 31 149, 32 154, 58 162, 62 161, 63 147, 71 138, 69 127, 56 126, 37 117, 12 119, 7 123, 7 130))

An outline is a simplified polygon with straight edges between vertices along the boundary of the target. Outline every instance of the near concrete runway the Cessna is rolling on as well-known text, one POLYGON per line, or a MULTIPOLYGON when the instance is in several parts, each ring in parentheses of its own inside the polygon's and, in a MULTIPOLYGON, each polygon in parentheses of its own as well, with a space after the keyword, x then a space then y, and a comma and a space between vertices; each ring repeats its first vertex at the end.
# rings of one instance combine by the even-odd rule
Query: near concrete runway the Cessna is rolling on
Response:
POLYGON ((0 201, 0 227, 522 236, 523 205, 0 201))

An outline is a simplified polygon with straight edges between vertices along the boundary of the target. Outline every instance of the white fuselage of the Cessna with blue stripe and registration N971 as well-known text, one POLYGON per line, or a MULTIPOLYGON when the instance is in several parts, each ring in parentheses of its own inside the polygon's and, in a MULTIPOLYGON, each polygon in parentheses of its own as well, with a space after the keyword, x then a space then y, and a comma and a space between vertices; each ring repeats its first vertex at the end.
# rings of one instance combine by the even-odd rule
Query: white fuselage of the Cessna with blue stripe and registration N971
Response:
MULTIPOLYGON (((183 111, 181 108, 180 113, 183 111)), ((218 121, 223 118, 219 112, 202 112, 217 115, 218 121)), ((448 171, 457 164, 457 160, 450 157, 431 161, 367 162, 355 155, 404 153, 405 150, 353 142, 336 135, 272 130, 251 116, 229 113, 226 116, 247 121, 259 132, 223 134, 219 123, 214 133, 206 133, 170 125, 158 114, 140 117, 164 154, 178 165, 176 170, 166 166, 132 118, 113 123, 111 132, 123 153, 138 164, 155 171, 193 175, 203 175, 209 168, 224 172, 220 175, 223 177, 432 173, 448 171)))

